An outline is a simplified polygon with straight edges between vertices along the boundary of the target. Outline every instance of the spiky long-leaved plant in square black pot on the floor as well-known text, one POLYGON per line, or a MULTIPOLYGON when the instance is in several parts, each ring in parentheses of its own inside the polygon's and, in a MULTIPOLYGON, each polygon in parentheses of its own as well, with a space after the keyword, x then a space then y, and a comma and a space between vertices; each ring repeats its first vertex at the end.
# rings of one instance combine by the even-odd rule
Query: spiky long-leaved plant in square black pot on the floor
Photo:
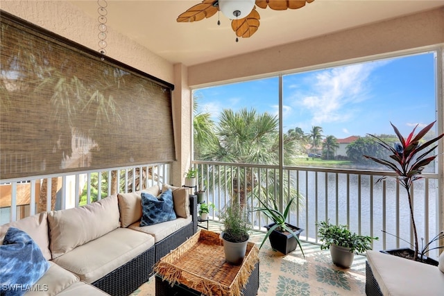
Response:
POLYGON ((273 207, 271 207, 258 198, 260 204, 262 204, 262 207, 254 209, 254 211, 262 211, 262 213, 264 213, 268 218, 273 220, 273 223, 264 226, 268 232, 264 236, 264 240, 262 240, 259 249, 262 248, 262 245, 264 245, 266 239, 269 238, 273 250, 278 250, 279 252, 287 255, 289 252, 296 250, 297 245, 299 245, 302 255, 305 256, 304 250, 302 250, 302 245, 300 245, 299 241, 299 234, 304 231, 304 229, 286 222, 294 199, 295 198, 291 198, 287 204, 287 207, 285 208, 284 213, 281 213, 275 200, 273 200, 273 207))

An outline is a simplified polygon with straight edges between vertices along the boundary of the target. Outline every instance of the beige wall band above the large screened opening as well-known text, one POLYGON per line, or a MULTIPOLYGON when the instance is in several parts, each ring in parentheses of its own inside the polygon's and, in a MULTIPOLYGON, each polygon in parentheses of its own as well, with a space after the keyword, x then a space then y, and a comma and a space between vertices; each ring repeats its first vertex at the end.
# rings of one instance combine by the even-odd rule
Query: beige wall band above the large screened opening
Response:
POLYGON ((444 6, 245 55, 190 66, 192 87, 444 43, 444 6), (260 62, 259 62, 260 61, 260 62))

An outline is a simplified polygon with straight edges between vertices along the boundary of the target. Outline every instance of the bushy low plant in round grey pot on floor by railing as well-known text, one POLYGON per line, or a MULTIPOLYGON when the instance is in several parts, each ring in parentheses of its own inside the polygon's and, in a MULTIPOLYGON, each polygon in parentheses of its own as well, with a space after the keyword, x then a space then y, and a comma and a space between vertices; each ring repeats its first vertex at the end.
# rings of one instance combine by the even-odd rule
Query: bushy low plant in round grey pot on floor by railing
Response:
POLYGON ((364 253, 370 250, 371 236, 361 236, 350 232, 345 225, 334 225, 328 221, 316 223, 318 236, 323 241, 321 250, 330 249, 330 255, 334 264, 343 268, 350 268, 355 253, 364 253))

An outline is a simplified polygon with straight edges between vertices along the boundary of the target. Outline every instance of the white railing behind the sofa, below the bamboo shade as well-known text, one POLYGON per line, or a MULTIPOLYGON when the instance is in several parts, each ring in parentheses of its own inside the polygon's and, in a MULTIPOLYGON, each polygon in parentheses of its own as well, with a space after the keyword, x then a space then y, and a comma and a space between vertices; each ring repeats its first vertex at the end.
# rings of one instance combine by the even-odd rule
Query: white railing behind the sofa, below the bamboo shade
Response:
POLYGON ((41 211, 79 207, 108 195, 168 184, 170 170, 169 163, 160 163, 0 180, 0 225, 41 211))

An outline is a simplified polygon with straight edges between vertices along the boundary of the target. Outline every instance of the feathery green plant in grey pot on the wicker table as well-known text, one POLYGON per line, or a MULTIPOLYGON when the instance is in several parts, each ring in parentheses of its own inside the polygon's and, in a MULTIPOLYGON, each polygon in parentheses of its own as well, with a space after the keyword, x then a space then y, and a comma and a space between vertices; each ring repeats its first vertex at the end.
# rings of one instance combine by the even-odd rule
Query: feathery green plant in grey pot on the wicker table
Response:
POLYGON ((227 204, 221 213, 223 220, 223 250, 225 261, 232 265, 240 265, 244 261, 247 250, 248 238, 251 224, 248 219, 246 206, 241 204, 227 204))

